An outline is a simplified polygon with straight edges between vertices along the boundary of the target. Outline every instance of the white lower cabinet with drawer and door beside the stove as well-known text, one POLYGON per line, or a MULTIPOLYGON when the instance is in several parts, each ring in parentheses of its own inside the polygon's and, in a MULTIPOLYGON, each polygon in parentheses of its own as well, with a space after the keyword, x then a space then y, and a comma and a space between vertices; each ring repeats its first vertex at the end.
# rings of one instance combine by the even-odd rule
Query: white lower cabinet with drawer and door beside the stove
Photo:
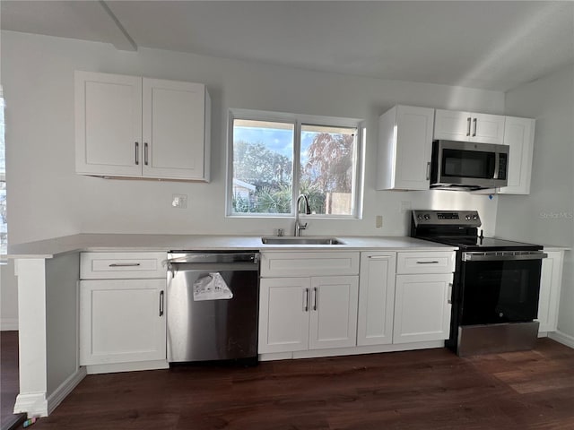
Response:
POLYGON ((454 252, 397 253, 393 343, 446 340, 454 252))

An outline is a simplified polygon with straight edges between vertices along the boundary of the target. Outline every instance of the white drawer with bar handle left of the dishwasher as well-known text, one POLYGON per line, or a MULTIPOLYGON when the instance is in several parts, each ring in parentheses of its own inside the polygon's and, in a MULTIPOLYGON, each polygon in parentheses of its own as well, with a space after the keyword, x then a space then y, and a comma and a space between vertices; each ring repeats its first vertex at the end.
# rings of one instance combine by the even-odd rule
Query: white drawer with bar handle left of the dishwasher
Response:
POLYGON ((80 278, 83 280, 162 279, 166 253, 82 253, 80 278))

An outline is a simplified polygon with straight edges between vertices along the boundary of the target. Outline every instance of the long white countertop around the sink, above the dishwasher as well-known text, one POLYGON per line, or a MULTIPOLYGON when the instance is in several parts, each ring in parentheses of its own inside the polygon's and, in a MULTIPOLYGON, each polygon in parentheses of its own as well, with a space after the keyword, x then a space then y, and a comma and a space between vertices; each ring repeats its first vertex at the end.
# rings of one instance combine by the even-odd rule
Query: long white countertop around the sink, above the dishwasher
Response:
POLYGON ((96 252, 154 252, 209 250, 456 250, 407 236, 336 236, 344 245, 264 245, 261 236, 216 235, 115 235, 80 234, 55 237, 25 244, 9 245, 8 258, 52 258, 59 254, 80 251, 96 252))

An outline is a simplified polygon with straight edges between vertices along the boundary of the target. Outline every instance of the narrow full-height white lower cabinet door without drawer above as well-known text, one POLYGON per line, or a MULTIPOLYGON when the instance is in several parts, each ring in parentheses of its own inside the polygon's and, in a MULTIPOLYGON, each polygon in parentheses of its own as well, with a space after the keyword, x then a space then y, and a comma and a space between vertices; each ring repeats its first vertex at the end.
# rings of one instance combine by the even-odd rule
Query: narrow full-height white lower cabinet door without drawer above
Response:
POLYGON ((357 345, 393 341, 395 253, 361 253, 357 345))

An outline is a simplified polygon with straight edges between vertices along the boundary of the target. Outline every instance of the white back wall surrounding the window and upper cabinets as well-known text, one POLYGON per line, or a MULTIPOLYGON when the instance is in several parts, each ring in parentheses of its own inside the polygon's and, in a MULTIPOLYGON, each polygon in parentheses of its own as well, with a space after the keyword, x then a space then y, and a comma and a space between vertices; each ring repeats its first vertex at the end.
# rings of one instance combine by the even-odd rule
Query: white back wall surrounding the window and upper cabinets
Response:
POLYGON ((477 208, 493 233, 497 197, 448 191, 377 192, 377 118, 396 103, 503 113, 504 95, 444 85, 383 81, 251 64, 157 49, 4 31, 8 225, 11 243, 78 232, 271 234, 292 219, 225 217, 226 121, 230 107, 367 121, 364 219, 311 219, 308 234, 405 235, 413 208, 477 208), (213 100, 210 184, 106 180, 74 174, 74 70, 203 82, 213 100), (171 194, 188 195, 187 210, 171 194), (375 228, 376 215, 383 228, 375 228))

